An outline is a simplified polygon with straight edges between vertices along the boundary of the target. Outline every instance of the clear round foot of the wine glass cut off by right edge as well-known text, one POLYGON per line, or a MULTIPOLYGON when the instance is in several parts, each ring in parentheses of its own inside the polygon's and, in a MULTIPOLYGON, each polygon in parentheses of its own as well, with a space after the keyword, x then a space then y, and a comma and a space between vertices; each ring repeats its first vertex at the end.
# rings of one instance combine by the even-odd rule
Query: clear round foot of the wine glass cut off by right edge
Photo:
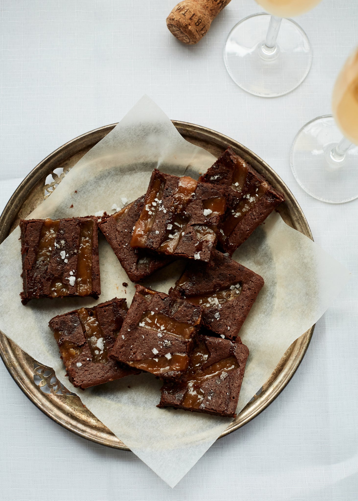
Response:
POLYGON ((333 117, 325 115, 308 122, 293 141, 293 175, 317 200, 344 203, 358 198, 358 146, 352 144, 341 158, 334 158, 332 149, 341 139, 333 117))

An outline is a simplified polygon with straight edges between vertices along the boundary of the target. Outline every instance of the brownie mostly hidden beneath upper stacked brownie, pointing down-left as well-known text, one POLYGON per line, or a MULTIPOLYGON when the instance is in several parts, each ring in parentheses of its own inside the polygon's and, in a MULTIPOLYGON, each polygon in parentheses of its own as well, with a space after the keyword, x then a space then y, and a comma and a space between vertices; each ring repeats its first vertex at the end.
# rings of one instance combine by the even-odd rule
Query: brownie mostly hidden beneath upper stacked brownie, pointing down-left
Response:
POLYGON ((144 207, 144 195, 115 214, 104 216, 98 227, 114 250, 132 282, 139 282, 172 261, 169 256, 150 255, 143 248, 130 246, 133 226, 144 207))

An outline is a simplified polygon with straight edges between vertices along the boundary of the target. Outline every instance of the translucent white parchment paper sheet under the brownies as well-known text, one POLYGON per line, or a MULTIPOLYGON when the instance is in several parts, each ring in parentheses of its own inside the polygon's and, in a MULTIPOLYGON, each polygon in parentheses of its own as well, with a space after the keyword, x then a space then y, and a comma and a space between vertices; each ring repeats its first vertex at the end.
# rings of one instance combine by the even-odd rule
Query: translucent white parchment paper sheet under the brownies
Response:
MULTIPOLYGON (((185 141, 166 115, 144 96, 72 168, 29 218, 113 212, 126 203, 125 199, 130 202, 146 191, 154 167, 197 178, 214 160, 205 150, 185 141)), ((125 297, 129 305, 134 287, 132 284, 127 289, 122 287, 122 282, 129 280, 111 247, 100 237, 102 294, 98 301, 64 298, 35 300, 23 306, 19 296, 22 291, 19 237, 18 227, 0 246, 1 330, 34 359, 53 367, 58 379, 173 487, 231 419, 156 408, 161 383, 150 374, 130 376, 85 391, 74 388, 65 377, 57 344, 48 328, 49 320, 113 297, 125 297)), ((265 280, 240 331, 250 356, 239 412, 268 379, 290 344, 332 303, 349 273, 309 238, 287 226, 276 212, 237 250, 234 259, 265 280)), ((149 277, 146 285, 167 292, 182 269, 183 263, 174 263, 149 277)))

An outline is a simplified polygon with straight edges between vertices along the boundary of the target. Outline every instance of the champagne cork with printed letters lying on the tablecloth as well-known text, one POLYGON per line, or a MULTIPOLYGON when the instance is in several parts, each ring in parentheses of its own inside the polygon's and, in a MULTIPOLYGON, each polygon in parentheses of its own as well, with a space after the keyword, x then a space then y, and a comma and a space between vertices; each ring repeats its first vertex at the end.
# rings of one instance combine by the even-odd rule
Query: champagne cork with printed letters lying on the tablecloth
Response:
POLYGON ((197 44, 230 0, 183 0, 166 18, 168 30, 184 44, 197 44))

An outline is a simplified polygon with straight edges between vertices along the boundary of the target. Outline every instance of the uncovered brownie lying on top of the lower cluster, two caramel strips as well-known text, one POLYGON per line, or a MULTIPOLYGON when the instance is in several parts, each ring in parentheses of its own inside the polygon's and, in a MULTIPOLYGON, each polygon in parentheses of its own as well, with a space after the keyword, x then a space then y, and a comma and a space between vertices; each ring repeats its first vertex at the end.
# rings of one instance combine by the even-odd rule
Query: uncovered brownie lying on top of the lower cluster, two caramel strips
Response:
POLYGON ((188 367, 200 319, 199 306, 137 285, 110 356, 161 378, 177 379, 188 367))

